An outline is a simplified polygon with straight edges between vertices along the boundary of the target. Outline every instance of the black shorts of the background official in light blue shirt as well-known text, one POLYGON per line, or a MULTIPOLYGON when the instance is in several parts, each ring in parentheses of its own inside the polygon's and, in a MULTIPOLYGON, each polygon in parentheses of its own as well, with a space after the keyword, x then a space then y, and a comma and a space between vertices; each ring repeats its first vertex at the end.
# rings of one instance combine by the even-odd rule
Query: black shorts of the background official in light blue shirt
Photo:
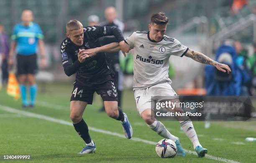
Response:
POLYGON ((21 74, 36 74, 38 71, 36 54, 20 55, 17 54, 18 75, 21 74))

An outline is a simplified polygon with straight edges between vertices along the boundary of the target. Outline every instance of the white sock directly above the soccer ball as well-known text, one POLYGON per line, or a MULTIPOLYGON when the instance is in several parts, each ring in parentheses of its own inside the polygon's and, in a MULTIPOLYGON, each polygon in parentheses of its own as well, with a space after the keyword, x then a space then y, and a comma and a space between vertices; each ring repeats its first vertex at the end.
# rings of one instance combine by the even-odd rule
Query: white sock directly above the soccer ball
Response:
POLYGON ((164 138, 171 139, 172 141, 176 141, 178 139, 176 136, 172 135, 165 128, 164 124, 161 123, 160 121, 154 121, 154 123, 152 123, 151 125, 148 125, 148 127, 164 138))

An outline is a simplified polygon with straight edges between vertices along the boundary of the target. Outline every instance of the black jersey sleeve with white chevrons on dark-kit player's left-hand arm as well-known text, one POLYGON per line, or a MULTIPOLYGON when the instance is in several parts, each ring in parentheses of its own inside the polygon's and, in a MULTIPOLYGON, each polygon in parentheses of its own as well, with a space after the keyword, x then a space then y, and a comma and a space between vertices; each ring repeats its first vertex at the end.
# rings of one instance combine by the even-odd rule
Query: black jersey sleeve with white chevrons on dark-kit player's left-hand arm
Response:
POLYGON ((82 65, 78 59, 73 63, 72 53, 67 45, 67 40, 61 44, 61 59, 64 72, 67 76, 71 76, 72 74, 76 73, 79 67, 82 65))

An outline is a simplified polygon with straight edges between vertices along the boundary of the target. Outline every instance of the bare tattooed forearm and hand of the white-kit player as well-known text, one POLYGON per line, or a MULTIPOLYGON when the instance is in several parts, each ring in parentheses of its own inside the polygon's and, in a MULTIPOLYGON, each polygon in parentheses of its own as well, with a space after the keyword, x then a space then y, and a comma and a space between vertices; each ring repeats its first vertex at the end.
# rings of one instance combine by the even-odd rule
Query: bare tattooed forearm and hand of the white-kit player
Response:
POLYGON ((203 63, 203 64, 210 64, 212 66, 215 66, 219 71, 222 72, 228 72, 228 74, 231 72, 231 69, 226 64, 221 64, 215 60, 210 59, 205 54, 202 54, 197 51, 193 51, 189 49, 187 53, 185 54, 186 57, 192 58, 197 62, 203 63))

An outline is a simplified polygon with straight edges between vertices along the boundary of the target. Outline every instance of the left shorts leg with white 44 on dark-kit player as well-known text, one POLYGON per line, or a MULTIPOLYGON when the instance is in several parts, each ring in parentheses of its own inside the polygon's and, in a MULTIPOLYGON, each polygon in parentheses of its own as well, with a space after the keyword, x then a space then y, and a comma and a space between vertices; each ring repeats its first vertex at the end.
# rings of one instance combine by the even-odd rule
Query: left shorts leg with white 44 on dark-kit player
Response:
POLYGON ((74 85, 70 101, 84 101, 92 104, 94 92, 90 86, 74 85))

